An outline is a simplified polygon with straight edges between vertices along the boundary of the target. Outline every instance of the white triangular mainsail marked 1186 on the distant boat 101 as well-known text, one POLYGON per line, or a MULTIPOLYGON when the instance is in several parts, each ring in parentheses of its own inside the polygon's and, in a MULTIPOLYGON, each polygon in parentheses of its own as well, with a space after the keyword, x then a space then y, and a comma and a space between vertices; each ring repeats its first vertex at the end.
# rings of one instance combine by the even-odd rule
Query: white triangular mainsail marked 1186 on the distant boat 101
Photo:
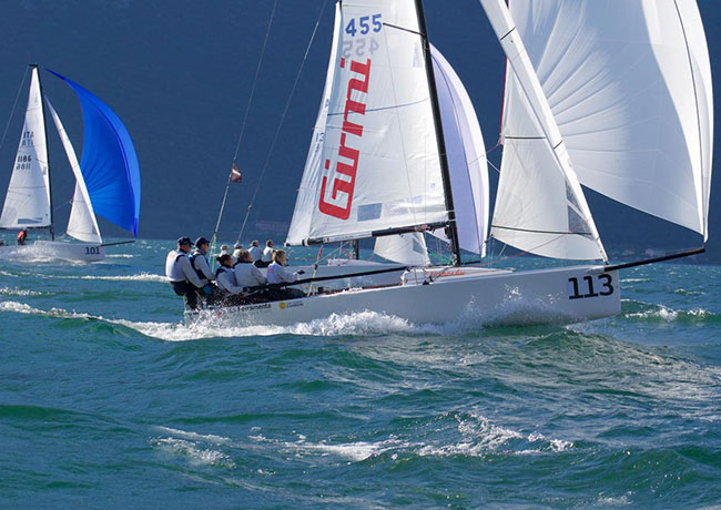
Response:
POLYGON ((32 69, 26 122, 8 185, 0 228, 52 225, 48 145, 38 68, 32 69))

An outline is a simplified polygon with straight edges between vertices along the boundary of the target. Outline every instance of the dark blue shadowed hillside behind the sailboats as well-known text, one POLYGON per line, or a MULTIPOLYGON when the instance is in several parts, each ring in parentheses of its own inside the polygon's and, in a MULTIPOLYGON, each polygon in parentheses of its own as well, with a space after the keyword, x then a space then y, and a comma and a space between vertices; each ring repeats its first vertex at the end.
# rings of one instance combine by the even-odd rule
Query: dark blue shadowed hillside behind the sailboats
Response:
MULTIPOLYGON (((278 121, 303 61, 321 0, 282 0, 271 31, 258 86, 241 145, 244 183, 233 185, 221 236, 237 236, 278 121)), ((466 84, 488 149, 499 129, 505 61, 476 0, 426 0, 428 30, 466 84)), ((721 4, 700 0, 715 83, 721 52, 721 4)), ((140 235, 175 238, 212 234, 241 131, 273 1, 271 0, 19 0, 3 2, 0 17, 0 130, 4 131, 29 62, 53 69, 103 99, 128 126, 143 181, 140 235)), ((296 187, 329 52, 333 2, 325 2, 246 235, 278 241, 293 211, 296 187)), ((82 121, 72 91, 49 74, 43 85, 80 152, 82 121)), ((717 104, 721 101, 717 101, 717 104)), ((27 82, 0 147, 4 195, 27 103, 27 82)), ((0 136, 2 134, 0 131, 0 136)), ((59 230, 64 226, 73 180, 50 130, 53 192, 59 230)), ((717 136, 717 140, 719 136, 717 136)), ((717 161, 721 152, 717 151, 717 161)), ((496 165, 500 151, 490 160, 496 165)), ((495 192, 496 172, 491 170, 495 192)), ((705 261, 721 262, 719 186, 711 198, 711 238, 705 261)), ((629 249, 698 246, 681 228, 629 211, 588 192, 606 246, 629 249)), ((102 222, 102 220, 101 220, 102 222)), ((108 236, 124 231, 102 222, 108 236)))

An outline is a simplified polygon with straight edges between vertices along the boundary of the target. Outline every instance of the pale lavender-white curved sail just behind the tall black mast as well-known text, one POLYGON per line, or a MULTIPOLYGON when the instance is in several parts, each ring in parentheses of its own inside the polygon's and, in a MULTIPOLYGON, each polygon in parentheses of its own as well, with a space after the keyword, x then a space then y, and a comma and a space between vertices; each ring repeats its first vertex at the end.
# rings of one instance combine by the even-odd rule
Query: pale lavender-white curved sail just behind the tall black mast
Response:
MULTIPOLYGON (((488 162, 480 124, 468 92, 456 71, 430 48, 438 91, 458 243, 463 249, 486 256, 488 233, 488 162)), ((433 235, 447 239, 443 231, 433 235)))

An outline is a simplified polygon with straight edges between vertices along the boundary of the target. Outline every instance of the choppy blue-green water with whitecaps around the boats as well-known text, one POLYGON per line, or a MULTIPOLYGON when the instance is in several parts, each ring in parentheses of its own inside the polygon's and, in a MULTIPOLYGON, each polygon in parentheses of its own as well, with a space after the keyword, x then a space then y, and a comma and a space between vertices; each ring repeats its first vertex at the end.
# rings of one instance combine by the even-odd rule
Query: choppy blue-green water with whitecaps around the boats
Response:
POLYGON ((0 508, 721 508, 720 267, 572 326, 185 327, 171 247, 0 259, 0 508))

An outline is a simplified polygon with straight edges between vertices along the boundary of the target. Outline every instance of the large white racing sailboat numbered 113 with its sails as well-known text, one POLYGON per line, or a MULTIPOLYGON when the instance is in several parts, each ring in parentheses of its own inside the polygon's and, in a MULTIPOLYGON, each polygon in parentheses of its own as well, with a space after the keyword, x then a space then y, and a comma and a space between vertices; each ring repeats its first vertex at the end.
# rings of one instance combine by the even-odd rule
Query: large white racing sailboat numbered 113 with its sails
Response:
POLYGON ((492 237, 580 263, 517 272, 464 265, 468 225, 459 215, 469 208, 457 191, 483 201, 484 190, 454 186, 448 160, 459 140, 466 154, 484 150, 443 123, 422 2, 343 0, 287 244, 435 233, 453 263, 405 267, 394 285, 186 310, 186 320, 291 325, 373 310, 414 323, 466 314, 575 323, 620 313, 619 271, 703 252, 609 264, 582 185, 708 239, 713 98, 693 0, 608 3, 480 0, 508 65, 496 206, 488 234, 476 222, 474 251, 492 237))

